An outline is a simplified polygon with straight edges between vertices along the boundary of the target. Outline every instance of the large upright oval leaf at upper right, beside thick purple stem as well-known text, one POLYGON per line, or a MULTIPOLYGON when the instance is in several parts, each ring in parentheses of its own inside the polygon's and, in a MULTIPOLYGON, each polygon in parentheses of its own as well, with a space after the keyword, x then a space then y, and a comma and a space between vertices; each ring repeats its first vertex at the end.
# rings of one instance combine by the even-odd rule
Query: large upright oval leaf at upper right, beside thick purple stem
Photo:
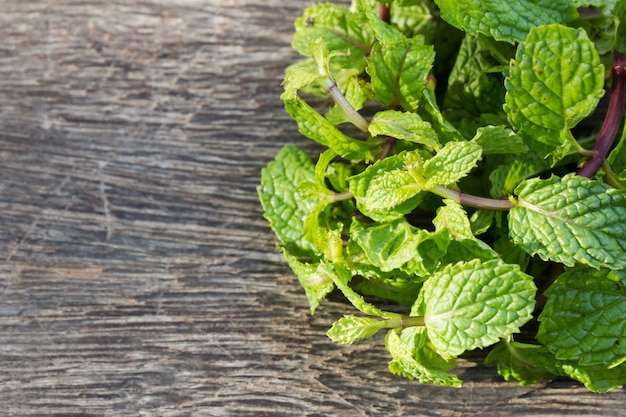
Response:
POLYGON ((554 148, 575 147, 569 132, 604 94, 604 66, 582 29, 533 28, 517 50, 506 83, 513 126, 554 148))

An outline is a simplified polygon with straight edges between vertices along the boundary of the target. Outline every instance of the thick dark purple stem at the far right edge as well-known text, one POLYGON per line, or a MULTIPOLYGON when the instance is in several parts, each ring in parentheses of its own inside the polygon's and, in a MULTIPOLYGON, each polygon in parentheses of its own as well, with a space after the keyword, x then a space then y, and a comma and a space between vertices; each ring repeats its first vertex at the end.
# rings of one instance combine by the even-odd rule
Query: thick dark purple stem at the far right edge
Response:
POLYGON ((589 158, 582 168, 578 170, 578 175, 583 177, 593 176, 604 161, 606 160, 611 146, 615 141, 615 136, 622 123, 624 115, 624 103, 626 101, 626 54, 615 51, 613 54, 613 65, 611 66, 611 75, 613 77, 613 86, 611 88, 611 97, 609 98, 609 108, 606 112, 604 122, 598 133, 598 138, 593 146, 593 156, 589 158))

